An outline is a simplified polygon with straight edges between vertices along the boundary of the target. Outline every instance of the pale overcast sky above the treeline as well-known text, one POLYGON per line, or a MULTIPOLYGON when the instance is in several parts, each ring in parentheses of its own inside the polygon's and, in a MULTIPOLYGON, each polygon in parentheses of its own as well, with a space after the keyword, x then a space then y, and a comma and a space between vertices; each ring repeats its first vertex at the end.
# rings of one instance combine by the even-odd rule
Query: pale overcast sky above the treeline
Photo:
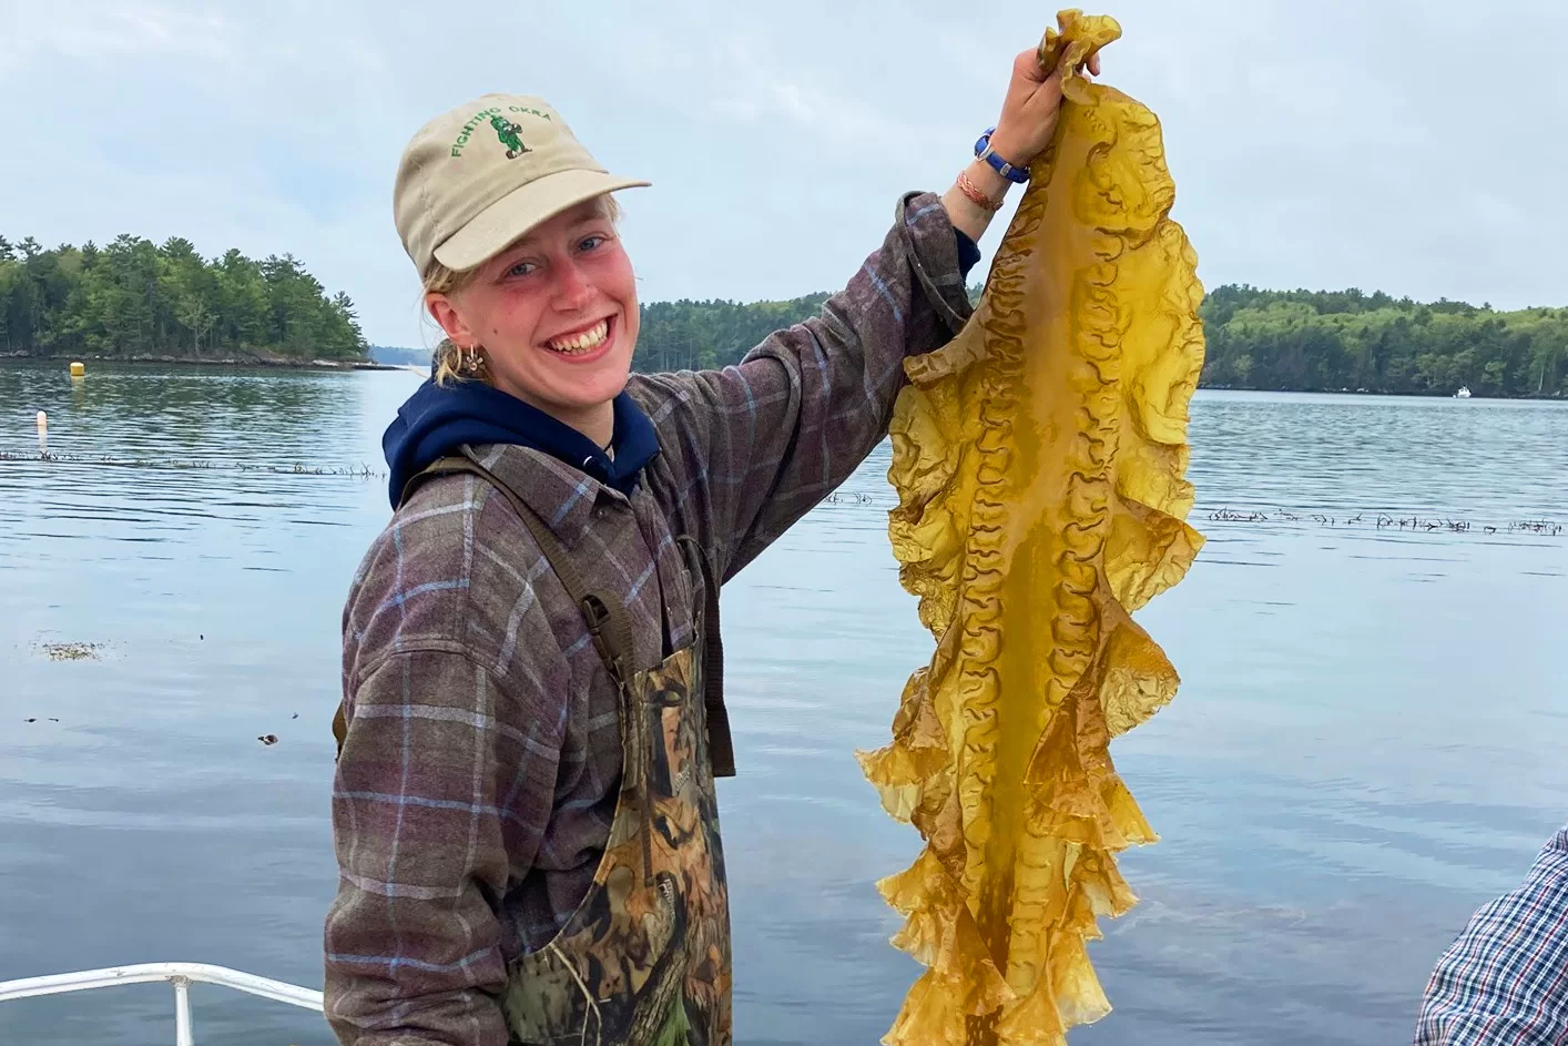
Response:
MULTIPOLYGON (((1116 0, 1206 285, 1568 304, 1568 5, 1116 0), (1480 14, 1485 11, 1485 14, 1480 14)), ((0 0, 0 232, 293 252, 433 343, 397 158, 541 94, 612 171, 644 301, 840 285, 944 190, 1055 8, 969 0, 0 0)), ((1019 191, 1014 190, 1014 201, 1019 191)), ((989 263, 1000 223, 986 243, 989 263)))

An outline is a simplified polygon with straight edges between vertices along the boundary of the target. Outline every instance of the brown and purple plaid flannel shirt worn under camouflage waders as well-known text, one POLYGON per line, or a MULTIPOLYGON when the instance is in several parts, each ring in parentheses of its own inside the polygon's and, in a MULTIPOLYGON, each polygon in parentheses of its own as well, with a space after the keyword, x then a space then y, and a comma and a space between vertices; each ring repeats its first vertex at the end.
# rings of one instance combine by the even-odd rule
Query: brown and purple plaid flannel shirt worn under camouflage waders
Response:
MULTIPOLYGON (((903 359, 969 315, 930 193, 822 314, 739 365, 633 375, 660 453, 630 497, 535 450, 475 447, 613 588, 635 668, 691 641, 677 535, 729 579, 886 436, 903 359)), ((474 477, 423 483, 343 612, 347 732, 332 790, 339 892, 326 1016, 348 1046, 505 1046, 508 963, 577 908, 621 772, 616 693, 580 612, 513 508, 474 477)))

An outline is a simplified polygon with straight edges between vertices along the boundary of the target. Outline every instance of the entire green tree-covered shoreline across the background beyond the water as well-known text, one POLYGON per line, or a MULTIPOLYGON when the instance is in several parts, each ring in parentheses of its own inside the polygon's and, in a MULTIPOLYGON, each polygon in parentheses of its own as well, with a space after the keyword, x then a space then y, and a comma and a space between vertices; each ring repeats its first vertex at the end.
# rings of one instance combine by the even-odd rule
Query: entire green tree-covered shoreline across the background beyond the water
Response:
MULTIPOLYGON (((737 362, 773 331, 817 315, 826 298, 644 303, 633 367, 737 362)), ((1568 395, 1568 307, 1502 312, 1356 289, 1226 284, 1204 296, 1201 315, 1204 387, 1568 395)), ((252 260, 230 249, 209 260, 179 237, 42 248, 0 235, 0 356, 362 364, 370 350, 348 295, 329 295, 290 254, 252 260)), ((373 354, 400 353, 428 362, 423 350, 373 354)))

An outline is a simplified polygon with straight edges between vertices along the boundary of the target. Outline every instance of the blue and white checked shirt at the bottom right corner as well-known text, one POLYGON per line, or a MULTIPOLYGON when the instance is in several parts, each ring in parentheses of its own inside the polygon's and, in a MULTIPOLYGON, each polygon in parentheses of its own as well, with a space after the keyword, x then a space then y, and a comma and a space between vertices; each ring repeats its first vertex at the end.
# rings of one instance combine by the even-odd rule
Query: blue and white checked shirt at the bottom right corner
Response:
POLYGON ((1443 953, 1416 1046, 1568 1046, 1568 828, 1443 953))

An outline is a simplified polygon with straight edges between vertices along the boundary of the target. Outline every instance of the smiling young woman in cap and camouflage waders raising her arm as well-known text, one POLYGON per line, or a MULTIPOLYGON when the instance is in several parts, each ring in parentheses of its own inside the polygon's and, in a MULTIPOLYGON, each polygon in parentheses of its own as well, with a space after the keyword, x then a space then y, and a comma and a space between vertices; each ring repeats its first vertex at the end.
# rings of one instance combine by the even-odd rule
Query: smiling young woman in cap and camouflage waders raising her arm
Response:
POLYGON ((718 587, 886 436, 1058 105, 1019 55, 977 158, 900 198, 817 318, 679 375, 629 376, 610 193, 646 182, 536 97, 414 136, 395 216, 447 339, 386 433, 395 513, 343 613, 342 1043, 731 1041, 718 587))

